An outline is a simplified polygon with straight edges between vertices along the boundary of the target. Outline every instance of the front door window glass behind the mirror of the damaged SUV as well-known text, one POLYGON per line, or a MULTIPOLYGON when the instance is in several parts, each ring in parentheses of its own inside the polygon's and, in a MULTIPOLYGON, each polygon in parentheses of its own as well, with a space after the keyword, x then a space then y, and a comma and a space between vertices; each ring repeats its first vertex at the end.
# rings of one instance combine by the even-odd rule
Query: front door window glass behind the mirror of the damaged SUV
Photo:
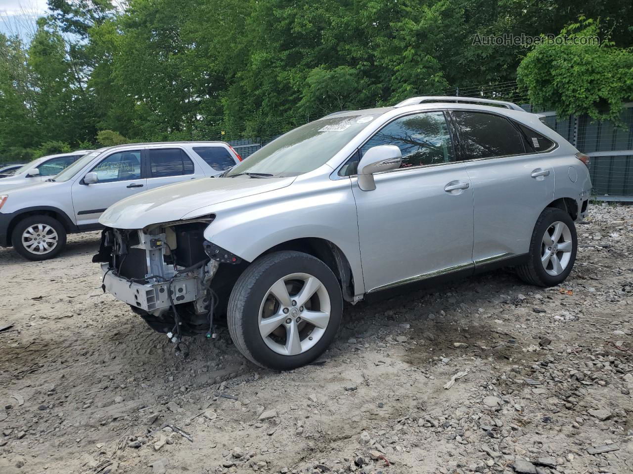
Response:
POLYGON ((361 154, 378 145, 396 145, 402 152, 403 168, 454 161, 443 112, 425 112, 392 121, 363 145, 361 154))

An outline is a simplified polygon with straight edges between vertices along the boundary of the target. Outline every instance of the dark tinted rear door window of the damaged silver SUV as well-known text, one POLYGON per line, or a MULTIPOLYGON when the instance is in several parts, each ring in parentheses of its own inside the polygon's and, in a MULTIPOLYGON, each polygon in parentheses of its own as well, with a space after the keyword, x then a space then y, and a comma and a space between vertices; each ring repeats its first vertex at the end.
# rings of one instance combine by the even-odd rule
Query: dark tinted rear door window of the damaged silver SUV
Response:
POLYGON ((454 111, 466 156, 472 160, 525 153, 524 138, 506 118, 484 112, 454 111))

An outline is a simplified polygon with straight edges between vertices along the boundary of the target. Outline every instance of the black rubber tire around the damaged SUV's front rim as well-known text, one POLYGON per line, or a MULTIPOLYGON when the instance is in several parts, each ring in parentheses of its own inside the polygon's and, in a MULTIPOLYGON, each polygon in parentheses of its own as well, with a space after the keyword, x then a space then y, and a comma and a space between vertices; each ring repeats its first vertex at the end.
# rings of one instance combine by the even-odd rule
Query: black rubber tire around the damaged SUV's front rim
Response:
POLYGON ((318 258, 302 252, 274 252, 255 260, 241 274, 229 298, 229 333, 239 351, 253 363, 275 370, 292 370, 313 362, 330 346, 341 324, 343 300, 339 281, 318 258), (303 272, 318 278, 330 298, 330 320, 318 342, 299 355, 281 355, 260 335, 260 306, 268 289, 280 278, 303 272))

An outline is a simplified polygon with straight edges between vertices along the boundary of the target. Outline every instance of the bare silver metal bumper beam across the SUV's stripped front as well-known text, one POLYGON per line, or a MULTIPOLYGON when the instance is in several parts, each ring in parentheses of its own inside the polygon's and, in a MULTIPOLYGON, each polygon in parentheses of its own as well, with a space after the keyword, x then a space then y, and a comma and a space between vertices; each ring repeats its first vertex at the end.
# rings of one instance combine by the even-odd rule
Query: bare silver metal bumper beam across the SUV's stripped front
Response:
POLYGON ((108 293, 128 305, 148 313, 171 307, 170 291, 175 305, 196 301, 197 298, 200 298, 198 279, 195 275, 177 277, 171 282, 134 283, 113 274, 110 271, 110 265, 106 263, 101 264, 101 274, 108 293))

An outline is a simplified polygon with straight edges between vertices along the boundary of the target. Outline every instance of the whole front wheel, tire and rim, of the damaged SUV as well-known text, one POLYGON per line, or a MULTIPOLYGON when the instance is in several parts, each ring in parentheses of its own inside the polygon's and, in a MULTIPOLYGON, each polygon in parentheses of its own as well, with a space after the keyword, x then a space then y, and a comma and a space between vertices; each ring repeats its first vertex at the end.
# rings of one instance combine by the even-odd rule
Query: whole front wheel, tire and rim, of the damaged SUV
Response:
POLYGON ((291 370, 329 347, 342 317, 341 286, 318 258, 275 252, 239 277, 229 298, 229 332, 251 362, 291 370))

